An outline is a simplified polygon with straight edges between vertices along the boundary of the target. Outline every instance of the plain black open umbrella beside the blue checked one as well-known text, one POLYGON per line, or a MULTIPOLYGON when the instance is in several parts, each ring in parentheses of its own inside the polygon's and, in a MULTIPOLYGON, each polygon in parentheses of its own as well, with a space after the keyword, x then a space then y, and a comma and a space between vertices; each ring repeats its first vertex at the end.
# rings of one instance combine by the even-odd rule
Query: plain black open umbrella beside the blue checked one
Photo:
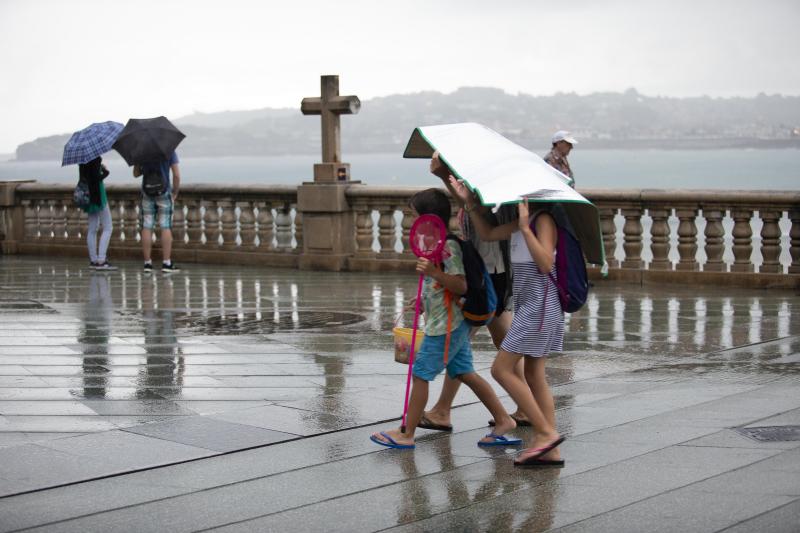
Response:
POLYGON ((113 148, 128 165, 168 160, 186 137, 167 117, 132 118, 113 148))

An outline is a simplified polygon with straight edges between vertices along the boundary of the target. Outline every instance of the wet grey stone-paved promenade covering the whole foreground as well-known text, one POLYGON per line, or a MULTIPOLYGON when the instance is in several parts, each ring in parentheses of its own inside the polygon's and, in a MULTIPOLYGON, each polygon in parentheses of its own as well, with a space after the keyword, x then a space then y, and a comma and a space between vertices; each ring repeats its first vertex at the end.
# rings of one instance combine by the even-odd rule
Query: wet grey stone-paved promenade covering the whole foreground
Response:
POLYGON ((798 530, 798 294, 598 284, 548 361, 566 467, 524 471, 465 387, 369 441, 413 275, 121 267, 0 257, 2 531, 798 530))

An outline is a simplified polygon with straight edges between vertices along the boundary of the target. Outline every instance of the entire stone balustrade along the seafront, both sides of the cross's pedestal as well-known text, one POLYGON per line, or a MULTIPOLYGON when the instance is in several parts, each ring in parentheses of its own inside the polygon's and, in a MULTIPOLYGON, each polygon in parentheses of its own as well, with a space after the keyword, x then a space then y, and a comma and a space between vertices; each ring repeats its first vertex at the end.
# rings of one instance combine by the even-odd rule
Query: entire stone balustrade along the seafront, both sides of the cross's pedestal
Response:
MULTIPOLYGON (((71 186, 0 184, 4 253, 84 255, 86 216, 71 186)), ((408 207, 417 187, 350 185, 351 270, 405 270, 408 207)), ((598 207, 611 279, 796 287, 800 192, 613 190, 581 192, 598 207)), ((139 191, 108 187, 112 257, 139 257, 139 191)), ((173 222, 174 256, 188 262, 252 261, 296 267, 302 213, 296 186, 186 185, 173 222)), ((455 210, 454 210, 455 213, 455 210)), ((456 230, 455 221, 451 229, 456 230)), ((156 242, 157 246, 157 242, 156 242)), ((592 274, 599 276, 599 269, 592 274)))

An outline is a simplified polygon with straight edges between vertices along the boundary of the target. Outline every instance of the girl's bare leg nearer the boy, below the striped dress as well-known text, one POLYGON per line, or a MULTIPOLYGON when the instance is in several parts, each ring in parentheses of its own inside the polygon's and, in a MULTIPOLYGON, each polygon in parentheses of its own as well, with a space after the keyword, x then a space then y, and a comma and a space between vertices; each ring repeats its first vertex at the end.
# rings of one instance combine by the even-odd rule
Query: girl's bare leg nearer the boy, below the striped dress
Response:
MULTIPOLYGON (((508 392, 509 396, 533 424, 533 439, 530 442, 530 448, 542 448, 556 440, 558 432, 547 421, 547 417, 539 408, 539 404, 533 398, 533 393, 528 383, 524 379, 520 379, 515 372, 515 366, 521 358, 520 354, 500 350, 492 365, 492 376, 508 392)), ((524 456, 523 452, 520 458, 524 458, 524 456)))

